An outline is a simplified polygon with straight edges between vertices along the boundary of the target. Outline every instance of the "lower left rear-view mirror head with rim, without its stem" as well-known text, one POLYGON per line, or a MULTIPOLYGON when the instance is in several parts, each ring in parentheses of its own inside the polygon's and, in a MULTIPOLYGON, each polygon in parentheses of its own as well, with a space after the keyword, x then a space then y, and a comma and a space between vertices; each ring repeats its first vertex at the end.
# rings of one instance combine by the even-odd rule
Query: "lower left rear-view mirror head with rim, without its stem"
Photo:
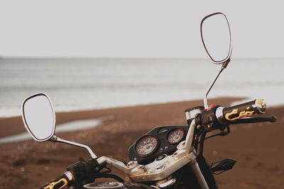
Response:
POLYGON ((43 142, 53 136, 55 113, 53 106, 44 93, 28 97, 23 102, 23 123, 33 139, 43 142))

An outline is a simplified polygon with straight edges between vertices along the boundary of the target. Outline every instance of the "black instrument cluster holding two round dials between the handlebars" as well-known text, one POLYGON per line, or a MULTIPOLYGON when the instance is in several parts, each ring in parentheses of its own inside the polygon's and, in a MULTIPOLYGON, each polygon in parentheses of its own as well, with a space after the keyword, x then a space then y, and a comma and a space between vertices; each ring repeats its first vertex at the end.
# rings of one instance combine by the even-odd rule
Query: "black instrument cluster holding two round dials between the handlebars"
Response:
POLYGON ((155 127, 129 148, 129 159, 146 164, 160 154, 170 154, 185 139, 187 130, 188 127, 182 125, 155 127))

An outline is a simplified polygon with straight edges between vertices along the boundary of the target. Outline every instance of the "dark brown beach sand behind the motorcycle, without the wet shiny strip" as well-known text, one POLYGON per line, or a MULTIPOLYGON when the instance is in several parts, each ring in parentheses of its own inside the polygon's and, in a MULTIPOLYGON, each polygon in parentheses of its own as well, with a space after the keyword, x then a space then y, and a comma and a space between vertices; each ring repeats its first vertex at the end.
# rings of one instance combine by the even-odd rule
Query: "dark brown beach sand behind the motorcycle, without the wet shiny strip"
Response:
MULTIPOLYGON (((236 98, 210 101, 229 105, 236 98)), ((113 120, 80 132, 57 134, 58 137, 88 144, 98 156, 128 161, 127 150, 142 134, 158 125, 186 125, 184 110, 202 101, 140 105, 72 113, 57 113, 57 122, 84 120, 113 115, 113 120)), ((234 168, 215 176, 219 188, 284 188, 284 107, 268 108, 275 123, 231 125, 231 134, 205 142, 209 162, 236 159, 234 168)), ((21 118, 0 119, 0 137, 25 132, 21 118)), ((34 141, 0 144, 0 188, 38 188, 60 176, 80 157, 89 158, 84 149, 67 144, 34 141)), ((119 173, 115 168, 114 173, 119 173)), ((125 175, 120 174, 123 178, 125 175)))

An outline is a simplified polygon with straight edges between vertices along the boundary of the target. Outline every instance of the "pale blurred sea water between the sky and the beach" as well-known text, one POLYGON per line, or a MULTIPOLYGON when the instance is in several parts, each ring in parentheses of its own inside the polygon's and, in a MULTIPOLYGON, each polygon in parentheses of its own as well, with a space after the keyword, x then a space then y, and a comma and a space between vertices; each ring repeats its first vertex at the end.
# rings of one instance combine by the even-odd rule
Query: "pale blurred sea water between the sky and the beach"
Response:
MULTIPOLYGON (((209 98, 264 98, 284 104, 284 59, 232 59, 209 98)), ((0 117, 21 115, 33 93, 56 111, 202 99, 219 66, 208 59, 0 59, 0 117)))

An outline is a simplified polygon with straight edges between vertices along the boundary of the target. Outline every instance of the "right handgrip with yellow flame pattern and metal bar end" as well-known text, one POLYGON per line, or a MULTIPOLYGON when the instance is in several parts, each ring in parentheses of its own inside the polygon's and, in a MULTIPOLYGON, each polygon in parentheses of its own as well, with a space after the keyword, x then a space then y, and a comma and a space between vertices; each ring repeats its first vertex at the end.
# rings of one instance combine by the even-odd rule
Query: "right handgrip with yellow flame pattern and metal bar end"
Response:
POLYGON ((239 118, 251 117, 254 114, 265 113, 266 103, 263 99, 256 99, 248 103, 234 105, 223 109, 223 119, 225 122, 238 120, 239 118))

